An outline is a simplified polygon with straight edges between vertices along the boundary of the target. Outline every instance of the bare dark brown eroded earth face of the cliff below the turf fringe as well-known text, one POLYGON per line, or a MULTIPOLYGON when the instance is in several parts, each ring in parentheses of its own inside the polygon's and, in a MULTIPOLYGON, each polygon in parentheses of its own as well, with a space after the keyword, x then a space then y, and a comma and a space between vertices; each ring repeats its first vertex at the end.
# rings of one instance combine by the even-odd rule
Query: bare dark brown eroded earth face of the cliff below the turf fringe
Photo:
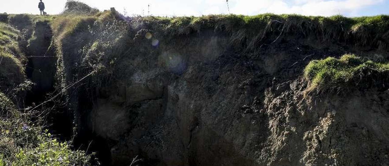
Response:
MULTIPOLYGON (((62 40, 70 43, 61 49, 69 84, 82 75, 74 71, 82 55, 64 47, 91 47, 83 33, 62 40)), ((126 35, 114 79, 69 95, 80 142, 95 140, 103 164, 128 165, 137 155, 160 166, 389 164, 388 91, 312 97, 301 78, 313 59, 385 50, 293 34, 274 42, 279 33, 247 49, 212 29, 126 35)))

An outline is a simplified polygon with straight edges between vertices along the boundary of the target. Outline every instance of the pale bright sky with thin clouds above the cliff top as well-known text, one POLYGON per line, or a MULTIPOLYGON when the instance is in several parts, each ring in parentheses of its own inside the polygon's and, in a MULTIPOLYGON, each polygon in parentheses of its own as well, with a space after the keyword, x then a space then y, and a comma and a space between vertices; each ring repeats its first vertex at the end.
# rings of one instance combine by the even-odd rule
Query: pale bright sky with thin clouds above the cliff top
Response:
MULTIPOLYGON (((99 10, 127 16, 201 16, 207 14, 262 13, 347 17, 389 14, 389 0, 79 0, 99 10), (150 5, 150 7, 148 7, 150 5), (148 14, 148 11, 150 13, 148 14)), ((66 0, 43 0, 48 14, 59 14, 66 0)), ((0 0, 0 12, 39 14, 39 0, 0 0)))

